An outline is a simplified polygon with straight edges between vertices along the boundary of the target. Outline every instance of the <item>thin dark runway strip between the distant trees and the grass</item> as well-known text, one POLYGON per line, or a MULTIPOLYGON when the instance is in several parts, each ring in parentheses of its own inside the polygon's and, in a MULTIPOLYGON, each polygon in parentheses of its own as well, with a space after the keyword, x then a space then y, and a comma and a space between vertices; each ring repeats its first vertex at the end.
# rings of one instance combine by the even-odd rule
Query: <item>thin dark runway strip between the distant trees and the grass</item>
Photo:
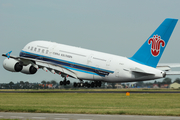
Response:
POLYGON ((0 93, 180 93, 180 91, 0 91, 0 93))

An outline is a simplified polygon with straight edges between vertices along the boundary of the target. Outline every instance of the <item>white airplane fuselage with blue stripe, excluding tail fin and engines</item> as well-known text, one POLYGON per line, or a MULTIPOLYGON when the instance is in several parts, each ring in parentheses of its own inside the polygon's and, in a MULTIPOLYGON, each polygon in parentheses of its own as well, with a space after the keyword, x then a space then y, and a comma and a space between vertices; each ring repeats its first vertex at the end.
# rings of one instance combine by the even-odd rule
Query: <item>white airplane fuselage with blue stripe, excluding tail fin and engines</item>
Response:
POLYGON ((82 80, 128 82, 162 78, 164 74, 161 70, 126 57, 48 41, 30 42, 21 52, 35 55, 34 59, 42 61, 48 59, 50 61, 45 61, 47 64, 60 65, 69 69, 82 80), (103 74, 98 74, 99 72, 103 74))

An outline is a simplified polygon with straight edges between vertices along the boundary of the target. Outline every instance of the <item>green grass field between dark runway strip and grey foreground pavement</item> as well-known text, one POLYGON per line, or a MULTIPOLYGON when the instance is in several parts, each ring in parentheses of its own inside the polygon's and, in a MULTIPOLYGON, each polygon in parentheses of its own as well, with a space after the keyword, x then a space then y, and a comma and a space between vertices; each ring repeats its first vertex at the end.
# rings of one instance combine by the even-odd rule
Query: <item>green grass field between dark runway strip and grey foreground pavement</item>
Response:
POLYGON ((0 111, 180 116, 180 94, 0 93, 0 111))

